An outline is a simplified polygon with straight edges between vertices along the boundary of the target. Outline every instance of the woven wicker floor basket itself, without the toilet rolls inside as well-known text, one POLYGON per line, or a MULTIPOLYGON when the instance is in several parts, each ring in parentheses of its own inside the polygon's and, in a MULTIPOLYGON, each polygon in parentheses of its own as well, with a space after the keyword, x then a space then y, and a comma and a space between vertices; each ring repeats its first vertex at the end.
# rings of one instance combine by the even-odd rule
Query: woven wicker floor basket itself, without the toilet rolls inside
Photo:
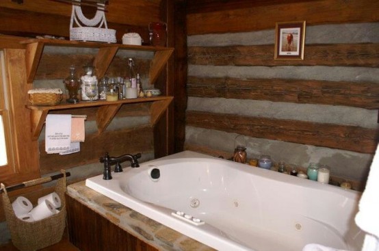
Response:
MULTIPOLYGON (((65 174, 65 172, 63 173, 65 174)), ((60 212, 36 222, 25 222, 18 219, 14 214, 5 186, 1 184, 1 187, 5 191, 2 195, 5 218, 10 229, 12 243, 18 250, 39 250, 51 246, 62 239, 64 228, 66 227, 66 202, 64 199, 66 175, 58 179, 55 186, 55 192, 60 196, 62 201, 60 212)))

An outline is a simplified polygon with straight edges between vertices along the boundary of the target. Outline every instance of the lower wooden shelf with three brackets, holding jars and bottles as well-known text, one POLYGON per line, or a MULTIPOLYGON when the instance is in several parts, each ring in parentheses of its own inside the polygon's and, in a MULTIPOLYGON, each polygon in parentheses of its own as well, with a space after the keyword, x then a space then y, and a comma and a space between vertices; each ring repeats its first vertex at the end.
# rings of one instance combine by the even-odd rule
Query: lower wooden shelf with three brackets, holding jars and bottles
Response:
POLYGON ((26 105, 31 109, 31 137, 33 140, 38 140, 42 130, 44 120, 46 120, 49 111, 62 110, 62 109, 77 109, 84 107, 99 107, 96 111, 96 124, 99 133, 107 129, 107 126, 116 116, 118 109, 122 105, 131 103, 152 103, 150 107, 150 125, 153 127, 157 120, 161 117, 168 105, 172 102, 172 96, 155 96, 151 98, 133 98, 125 99, 122 101, 94 101, 94 102, 80 102, 77 104, 63 103, 60 105, 52 106, 36 106, 26 105))

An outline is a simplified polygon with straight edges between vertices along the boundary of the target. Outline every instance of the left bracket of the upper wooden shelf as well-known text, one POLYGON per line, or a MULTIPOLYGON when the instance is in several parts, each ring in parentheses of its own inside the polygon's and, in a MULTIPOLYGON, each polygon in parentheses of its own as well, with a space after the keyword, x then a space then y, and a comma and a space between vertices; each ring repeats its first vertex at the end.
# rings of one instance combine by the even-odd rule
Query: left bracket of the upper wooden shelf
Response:
POLYGON ((43 48, 44 42, 32 42, 26 45, 25 65, 27 73, 27 83, 33 83, 43 48))

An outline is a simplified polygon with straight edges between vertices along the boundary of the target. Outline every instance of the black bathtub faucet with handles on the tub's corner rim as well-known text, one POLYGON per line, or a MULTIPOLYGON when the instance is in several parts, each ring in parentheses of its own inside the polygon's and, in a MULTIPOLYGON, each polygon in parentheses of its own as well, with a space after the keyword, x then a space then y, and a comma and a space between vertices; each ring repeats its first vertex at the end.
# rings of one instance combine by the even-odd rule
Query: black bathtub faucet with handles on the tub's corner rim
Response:
POLYGON ((109 157, 108 153, 105 153, 104 157, 100 157, 100 163, 104 163, 104 172, 103 172, 103 179, 110 180, 112 179, 112 173, 111 173, 111 166, 114 166, 114 172, 122 172, 121 163, 125 161, 131 162, 132 168, 138 168, 140 167, 140 164, 138 163, 138 159, 140 159, 142 155, 140 153, 136 155, 121 155, 118 157, 109 157))

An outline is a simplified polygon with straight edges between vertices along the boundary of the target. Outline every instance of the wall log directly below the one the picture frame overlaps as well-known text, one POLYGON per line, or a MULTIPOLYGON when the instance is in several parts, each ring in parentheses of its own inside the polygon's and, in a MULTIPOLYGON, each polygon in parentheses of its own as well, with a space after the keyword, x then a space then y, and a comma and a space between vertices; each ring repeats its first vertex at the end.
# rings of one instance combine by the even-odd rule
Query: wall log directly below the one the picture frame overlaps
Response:
POLYGON ((188 77, 188 96, 379 108, 378 83, 188 77))

